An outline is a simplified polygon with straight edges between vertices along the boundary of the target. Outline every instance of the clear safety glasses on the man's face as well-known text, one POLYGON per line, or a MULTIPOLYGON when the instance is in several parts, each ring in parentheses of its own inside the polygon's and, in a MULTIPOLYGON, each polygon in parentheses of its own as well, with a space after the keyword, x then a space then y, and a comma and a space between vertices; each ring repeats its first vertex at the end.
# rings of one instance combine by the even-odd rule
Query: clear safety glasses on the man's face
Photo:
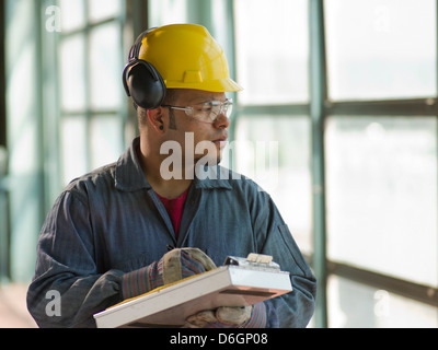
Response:
POLYGON ((232 98, 227 98, 224 102, 209 101, 199 105, 186 107, 162 105, 162 107, 184 110, 187 116, 204 122, 215 122, 218 116, 220 116, 221 114, 226 115, 227 118, 230 118, 232 106, 232 98))

